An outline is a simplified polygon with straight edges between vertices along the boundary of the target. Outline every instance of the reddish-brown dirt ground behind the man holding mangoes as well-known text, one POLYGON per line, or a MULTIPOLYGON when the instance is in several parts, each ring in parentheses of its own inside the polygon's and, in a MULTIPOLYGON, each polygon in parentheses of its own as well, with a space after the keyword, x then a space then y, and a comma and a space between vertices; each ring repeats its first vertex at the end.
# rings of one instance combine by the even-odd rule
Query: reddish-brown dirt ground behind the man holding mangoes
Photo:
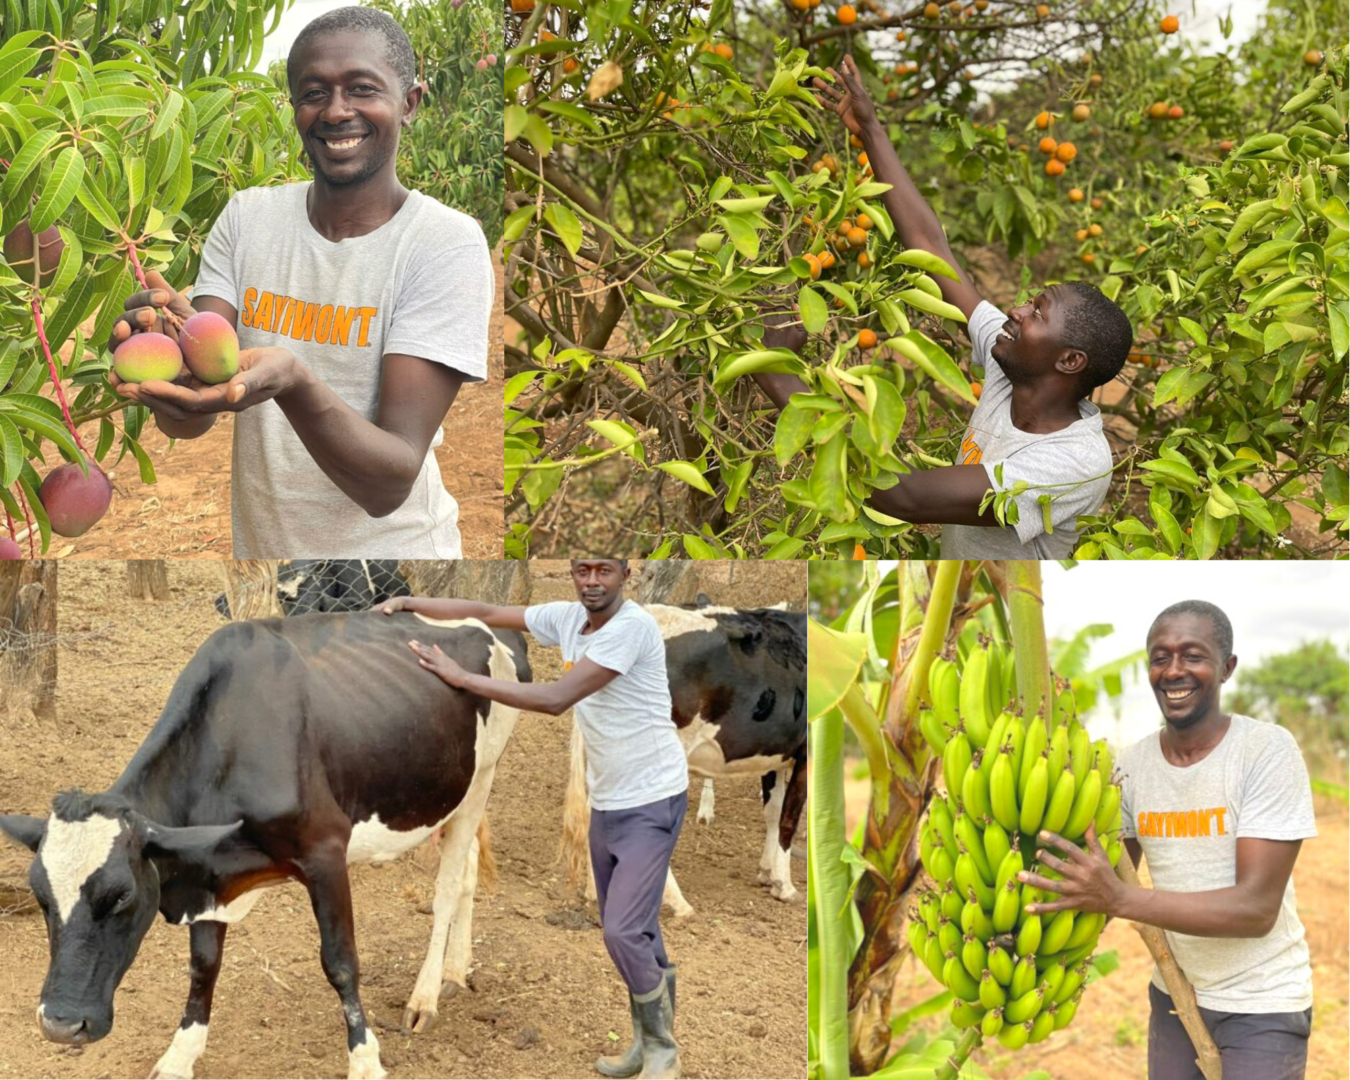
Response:
MULTIPOLYGON (((441 478, 459 502, 459 532, 466 559, 502 554, 502 251, 493 252, 497 305, 489 329, 489 379, 460 389, 436 448, 441 478)), ((93 329, 90 319, 84 327, 93 329)), ((49 387, 50 394, 50 387, 49 387)), ((99 424, 80 429, 85 444, 99 440, 99 424)), ((96 528, 74 540, 51 539, 51 556, 126 559, 150 555, 188 559, 230 558, 230 448, 234 416, 225 413, 200 439, 169 446, 154 423, 142 446, 155 466, 154 485, 140 482, 128 452, 112 468, 112 506, 96 528)), ((55 463, 55 459, 53 459, 55 463)), ((39 470, 46 471, 46 470, 39 470)), ((296 552, 304 555, 304 552, 296 552)))

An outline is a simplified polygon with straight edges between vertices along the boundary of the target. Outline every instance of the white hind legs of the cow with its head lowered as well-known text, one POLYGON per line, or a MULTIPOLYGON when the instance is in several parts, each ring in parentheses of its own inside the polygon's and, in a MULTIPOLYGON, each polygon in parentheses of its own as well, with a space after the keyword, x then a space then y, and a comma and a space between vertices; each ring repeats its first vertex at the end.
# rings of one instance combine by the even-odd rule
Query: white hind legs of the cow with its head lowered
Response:
MULTIPOLYGON (((491 776, 487 778, 487 787, 491 787, 491 776)), ((470 792, 467 798, 473 794, 470 792)), ((440 869, 436 872, 436 898, 432 900, 431 942, 421 972, 413 984, 412 996, 404 1008, 404 1027, 414 1033, 428 1031, 436 1023, 436 1003, 440 999, 443 981, 454 983, 456 988, 463 988, 468 983, 474 888, 478 886, 478 840, 474 834, 478 832, 482 815, 481 803, 477 807, 462 805, 441 830, 440 869), (447 960, 448 979, 444 975, 447 960)))

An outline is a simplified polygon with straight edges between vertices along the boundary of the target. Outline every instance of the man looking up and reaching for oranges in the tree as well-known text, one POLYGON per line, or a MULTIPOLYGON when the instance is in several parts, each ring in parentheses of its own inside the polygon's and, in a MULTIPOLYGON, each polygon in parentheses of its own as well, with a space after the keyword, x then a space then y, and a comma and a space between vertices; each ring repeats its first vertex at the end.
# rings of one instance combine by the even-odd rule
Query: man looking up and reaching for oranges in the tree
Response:
MULTIPOLYGON (((818 99, 838 113, 863 143, 899 240, 930 251, 957 274, 937 275, 942 298, 960 308, 975 359, 984 364, 984 389, 961 443, 960 464, 910 473, 868 502, 890 517, 941 524, 944 559, 1062 559, 1077 540, 1077 516, 1100 508, 1111 481, 1111 450, 1102 413, 1087 396, 1119 373, 1130 352, 1131 329, 1115 304, 1083 282, 1044 289, 1004 315, 971 285, 957 266, 942 225, 891 146, 863 88, 857 65, 845 57, 830 69, 842 90, 815 80, 818 99), (990 489, 1017 506, 1007 525, 995 518, 990 489), (1038 502, 1049 495, 1049 509, 1038 502)), ((780 315, 765 323, 764 347, 801 351, 806 332, 780 315)), ((753 375, 778 408, 809 387, 795 375, 753 375)))

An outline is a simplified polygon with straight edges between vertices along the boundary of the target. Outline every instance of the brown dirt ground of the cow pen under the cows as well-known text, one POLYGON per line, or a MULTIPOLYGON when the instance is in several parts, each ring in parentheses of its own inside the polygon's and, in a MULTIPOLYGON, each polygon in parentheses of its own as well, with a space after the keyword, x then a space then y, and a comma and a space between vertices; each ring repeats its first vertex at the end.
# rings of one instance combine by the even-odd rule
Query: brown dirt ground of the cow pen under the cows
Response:
MULTIPOLYGON (((174 678, 221 625, 217 571, 169 564, 171 598, 123 598, 123 567, 61 567, 58 720, 11 716, 0 729, 0 806, 43 813, 58 787, 101 790, 154 724, 174 678)), ((556 653, 532 651, 539 679, 556 653)), ((3 698, 3 694, 0 694, 3 698)), ((0 709, 3 716, 3 709, 0 709)), ((489 803, 500 883, 479 890, 473 992, 441 1000, 431 1033, 379 1030, 390 1076, 590 1076, 610 1033, 624 1035, 626 998, 589 911, 555 863, 570 721, 522 714, 489 803)), ((688 1077, 787 1077, 806 1066, 805 905, 756 884, 763 840, 757 782, 718 783, 718 817, 693 814, 675 872, 697 914, 667 917, 680 965, 678 1034, 688 1077)), ((0 845, 0 878, 26 860, 0 845), (8 861, 4 861, 8 860, 8 861)), ((352 873, 362 988, 378 1023, 397 1023, 421 965, 431 915, 431 860, 414 852, 352 873)), ((805 895, 805 865, 794 865, 805 895)), ((186 998, 188 934, 158 921, 117 995, 112 1034, 82 1053, 45 1042, 34 1008, 47 965, 40 918, 0 917, 0 1077, 146 1076, 186 998)), ((319 965, 319 937, 298 886, 266 892, 230 930, 211 1038, 198 1077, 346 1076, 342 1013, 319 965)))

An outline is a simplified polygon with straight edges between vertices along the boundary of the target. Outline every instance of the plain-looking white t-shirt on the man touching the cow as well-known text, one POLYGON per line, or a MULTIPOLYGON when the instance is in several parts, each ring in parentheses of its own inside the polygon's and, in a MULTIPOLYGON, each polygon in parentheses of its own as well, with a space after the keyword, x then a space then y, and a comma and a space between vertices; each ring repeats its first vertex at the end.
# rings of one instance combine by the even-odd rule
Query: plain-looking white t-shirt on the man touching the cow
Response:
POLYGON ((628 599, 593 634, 578 601, 525 609, 541 645, 558 645, 563 663, 583 659, 618 678, 572 710, 586 742, 586 787, 594 810, 628 810, 688 788, 688 763, 671 718, 666 641, 656 620, 628 599))

